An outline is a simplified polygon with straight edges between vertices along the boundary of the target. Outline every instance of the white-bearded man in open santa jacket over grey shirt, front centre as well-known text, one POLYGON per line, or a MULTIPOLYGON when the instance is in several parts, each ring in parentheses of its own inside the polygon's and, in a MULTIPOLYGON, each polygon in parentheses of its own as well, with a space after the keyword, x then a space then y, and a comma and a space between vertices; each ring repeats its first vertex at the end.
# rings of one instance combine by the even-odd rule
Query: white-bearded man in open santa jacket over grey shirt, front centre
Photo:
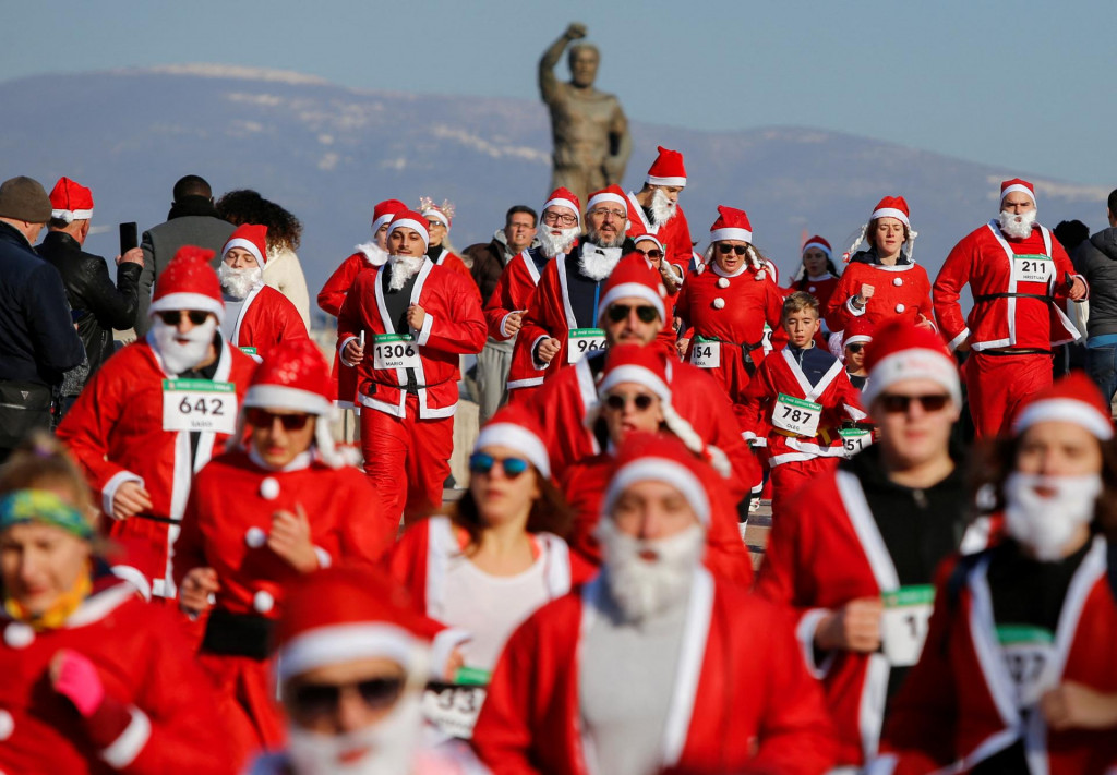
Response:
POLYGON ((677 439, 618 452, 604 566, 508 641, 474 731, 497 773, 823 773, 832 725, 785 614, 701 566, 717 475, 677 439))

